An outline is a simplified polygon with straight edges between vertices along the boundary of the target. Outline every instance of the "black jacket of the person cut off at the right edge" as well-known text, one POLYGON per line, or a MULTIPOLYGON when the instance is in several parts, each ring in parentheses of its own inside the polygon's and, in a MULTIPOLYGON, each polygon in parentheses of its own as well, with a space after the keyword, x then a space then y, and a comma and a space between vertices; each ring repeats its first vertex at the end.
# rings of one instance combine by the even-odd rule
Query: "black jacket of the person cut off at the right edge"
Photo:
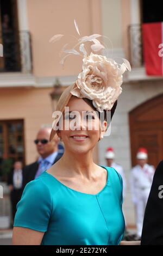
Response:
POLYGON ((160 185, 163 185, 163 161, 155 170, 143 220, 141 245, 163 245, 163 198, 159 198, 159 192, 163 196, 163 191, 159 190, 160 185))

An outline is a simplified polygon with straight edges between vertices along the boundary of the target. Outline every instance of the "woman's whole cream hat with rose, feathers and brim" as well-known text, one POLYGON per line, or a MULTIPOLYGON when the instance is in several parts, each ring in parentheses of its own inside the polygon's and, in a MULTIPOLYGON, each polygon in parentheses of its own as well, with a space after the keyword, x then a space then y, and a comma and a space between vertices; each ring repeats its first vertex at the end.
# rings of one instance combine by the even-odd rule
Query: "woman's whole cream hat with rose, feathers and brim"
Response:
MULTIPOLYGON (((77 22, 74 20, 76 31, 80 36, 77 22)), ((54 35, 49 42, 55 42, 62 38, 62 34, 54 35)), ((71 54, 82 55, 83 65, 82 72, 79 73, 76 82, 71 86, 68 86, 61 94, 57 103, 55 111, 64 112, 65 106, 70 100, 71 96, 77 96, 79 98, 87 98, 92 100, 93 106, 99 112, 110 111, 118 96, 122 92, 122 78, 123 73, 128 69, 131 71, 130 64, 127 59, 122 59, 123 63, 118 64, 114 59, 106 58, 97 52, 105 48, 99 38, 102 35, 92 34, 89 36, 80 37, 77 44, 71 48, 66 49, 67 45, 64 45, 61 52, 67 53, 64 58, 61 59, 61 64, 71 54), (97 39, 98 38, 98 39, 97 39), (91 42, 91 53, 87 54, 85 43, 91 42), (79 48, 77 51, 76 48, 79 48), (94 53, 95 52, 95 53, 94 53)), ((54 137, 58 120, 53 122, 53 129, 50 135, 50 141, 54 137)))

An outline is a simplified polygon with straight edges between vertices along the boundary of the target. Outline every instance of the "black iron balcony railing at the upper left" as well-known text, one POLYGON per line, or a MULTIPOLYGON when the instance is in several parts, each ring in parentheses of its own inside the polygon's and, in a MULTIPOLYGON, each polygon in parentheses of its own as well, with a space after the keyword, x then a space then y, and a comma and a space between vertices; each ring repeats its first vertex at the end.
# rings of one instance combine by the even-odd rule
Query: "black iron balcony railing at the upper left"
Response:
POLYGON ((3 57, 0 57, 0 72, 32 72, 31 38, 28 31, 0 34, 3 57))

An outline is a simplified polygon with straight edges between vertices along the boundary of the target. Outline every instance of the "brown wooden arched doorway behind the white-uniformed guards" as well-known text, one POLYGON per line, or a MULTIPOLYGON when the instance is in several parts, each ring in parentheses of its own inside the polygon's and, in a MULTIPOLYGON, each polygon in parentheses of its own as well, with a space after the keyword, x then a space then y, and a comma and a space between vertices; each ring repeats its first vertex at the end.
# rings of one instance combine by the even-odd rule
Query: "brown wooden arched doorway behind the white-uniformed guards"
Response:
POLYGON ((156 167, 163 159, 163 94, 130 111, 129 125, 132 166, 137 149, 145 147, 149 163, 156 167))

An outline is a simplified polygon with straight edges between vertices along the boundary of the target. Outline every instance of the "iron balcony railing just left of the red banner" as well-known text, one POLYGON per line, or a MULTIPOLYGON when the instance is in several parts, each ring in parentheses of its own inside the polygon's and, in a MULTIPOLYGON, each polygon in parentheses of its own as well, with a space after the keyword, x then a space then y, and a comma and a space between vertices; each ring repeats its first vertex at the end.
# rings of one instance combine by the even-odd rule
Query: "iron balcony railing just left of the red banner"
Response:
POLYGON ((133 68, 141 68, 143 66, 141 25, 129 26, 129 42, 130 63, 133 68))

